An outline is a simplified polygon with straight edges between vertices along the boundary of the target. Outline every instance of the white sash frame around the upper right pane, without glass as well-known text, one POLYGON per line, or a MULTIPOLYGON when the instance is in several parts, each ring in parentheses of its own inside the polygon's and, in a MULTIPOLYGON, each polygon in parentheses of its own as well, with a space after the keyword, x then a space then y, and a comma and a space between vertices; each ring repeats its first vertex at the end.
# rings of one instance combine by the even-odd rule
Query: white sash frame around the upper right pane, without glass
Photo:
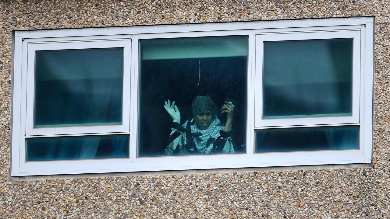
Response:
MULTIPOLYGON (((272 30, 271 30, 272 32, 272 30)), ((306 31, 298 33, 275 32, 256 35, 256 85, 255 89, 255 127, 287 126, 287 125, 326 125, 326 124, 352 124, 358 123, 360 110, 360 39, 358 30, 334 30, 334 31, 306 31), (273 118, 264 119, 263 109, 263 43, 267 41, 298 41, 314 39, 340 39, 353 38, 353 76, 352 76, 352 115, 330 117, 307 118, 273 118)))

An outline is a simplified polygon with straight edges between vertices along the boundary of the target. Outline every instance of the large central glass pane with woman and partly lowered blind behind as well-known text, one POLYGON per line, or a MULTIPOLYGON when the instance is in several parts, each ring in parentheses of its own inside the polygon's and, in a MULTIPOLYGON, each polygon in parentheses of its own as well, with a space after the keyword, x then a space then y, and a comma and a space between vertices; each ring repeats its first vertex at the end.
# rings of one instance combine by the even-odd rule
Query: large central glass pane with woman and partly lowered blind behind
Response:
POLYGON ((138 157, 244 153, 247 54, 247 36, 140 40, 138 157))

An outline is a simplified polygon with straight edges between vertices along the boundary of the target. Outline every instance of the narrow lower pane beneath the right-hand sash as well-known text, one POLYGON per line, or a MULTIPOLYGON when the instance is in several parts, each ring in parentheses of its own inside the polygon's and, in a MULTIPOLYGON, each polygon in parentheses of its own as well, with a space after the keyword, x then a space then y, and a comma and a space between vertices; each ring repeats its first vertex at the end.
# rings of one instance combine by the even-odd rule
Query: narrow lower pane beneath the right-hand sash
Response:
POLYGON ((256 131, 257 153, 359 149, 359 126, 256 131))

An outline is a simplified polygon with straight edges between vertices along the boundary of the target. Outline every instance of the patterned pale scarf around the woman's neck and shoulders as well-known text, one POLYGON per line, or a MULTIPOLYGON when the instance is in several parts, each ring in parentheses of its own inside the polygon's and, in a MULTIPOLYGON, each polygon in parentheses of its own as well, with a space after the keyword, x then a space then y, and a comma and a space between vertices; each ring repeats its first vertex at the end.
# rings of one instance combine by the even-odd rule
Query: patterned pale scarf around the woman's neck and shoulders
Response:
MULTIPOLYGON (((225 126, 217 117, 213 117, 213 121, 211 122, 210 126, 205 130, 198 129, 196 123, 193 121, 194 119, 191 120, 191 124, 193 124, 191 125, 191 134, 193 136, 195 147, 201 154, 208 154, 214 147, 214 141, 211 142, 211 144, 208 146, 207 141, 209 141, 210 138, 213 138, 214 140, 218 138, 218 136, 220 136, 220 131, 223 130, 225 126)), ((183 124, 184 128, 187 127, 187 122, 183 124)), ((187 138, 184 138, 184 145, 186 144, 187 138)))

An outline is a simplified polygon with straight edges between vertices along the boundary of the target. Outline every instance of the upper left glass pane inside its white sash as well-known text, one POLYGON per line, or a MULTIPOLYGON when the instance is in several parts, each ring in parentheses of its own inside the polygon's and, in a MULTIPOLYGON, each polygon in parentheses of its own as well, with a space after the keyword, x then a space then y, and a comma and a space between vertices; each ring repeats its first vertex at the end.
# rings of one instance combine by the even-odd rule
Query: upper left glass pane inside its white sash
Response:
POLYGON ((123 48, 35 52, 34 127, 122 124, 123 48))

